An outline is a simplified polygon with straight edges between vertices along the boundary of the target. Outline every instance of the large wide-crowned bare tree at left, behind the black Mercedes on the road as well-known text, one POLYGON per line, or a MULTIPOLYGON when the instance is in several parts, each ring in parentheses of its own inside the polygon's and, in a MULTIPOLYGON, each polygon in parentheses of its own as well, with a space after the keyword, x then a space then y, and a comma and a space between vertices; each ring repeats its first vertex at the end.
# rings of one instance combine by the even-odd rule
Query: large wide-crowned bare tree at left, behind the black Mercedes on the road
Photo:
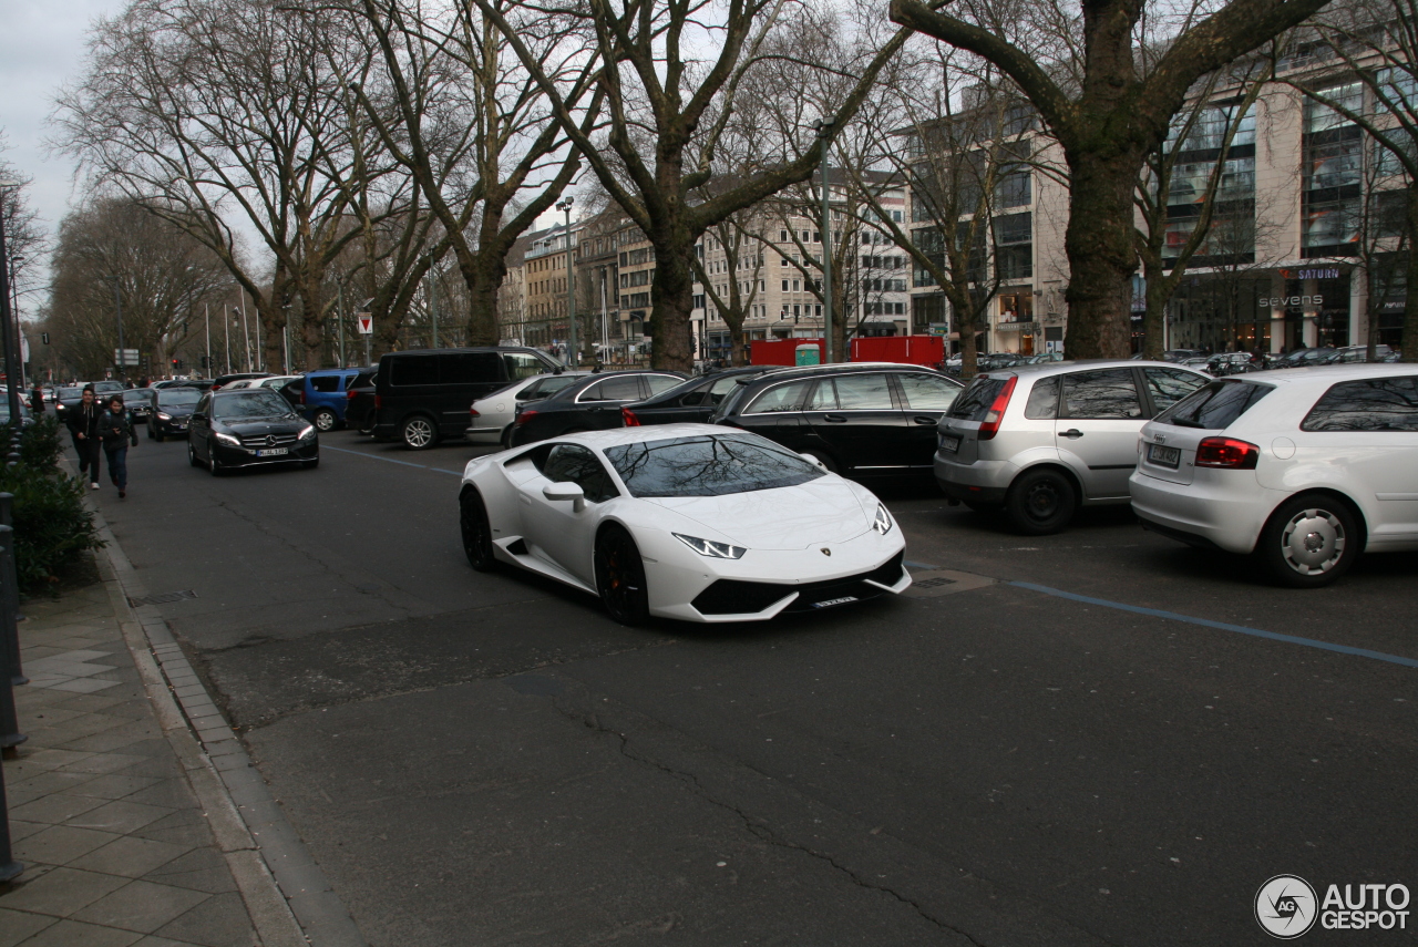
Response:
MULTIPOLYGON (((60 143, 96 184, 225 262, 255 302, 272 364, 298 295, 303 362, 319 367, 325 269, 367 235, 360 210, 401 203, 397 183, 384 201, 363 200, 390 166, 342 91, 372 62, 320 28, 274 0, 136 0, 95 24, 85 72, 57 112, 60 143), (241 252, 241 231, 255 232, 265 261, 241 252)), ((406 254, 406 271, 417 259, 406 254)))

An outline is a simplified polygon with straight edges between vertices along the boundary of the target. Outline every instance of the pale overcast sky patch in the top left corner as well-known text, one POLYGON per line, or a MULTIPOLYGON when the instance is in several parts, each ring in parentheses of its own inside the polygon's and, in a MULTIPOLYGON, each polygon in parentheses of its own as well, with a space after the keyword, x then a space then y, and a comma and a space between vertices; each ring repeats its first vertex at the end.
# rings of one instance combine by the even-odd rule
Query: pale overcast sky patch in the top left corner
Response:
POLYGON ((44 119, 60 85, 82 62, 89 23, 122 7, 123 0, 0 0, 0 128, 10 143, 4 157, 34 179, 30 200, 51 231, 69 208, 74 166, 44 147, 44 119))

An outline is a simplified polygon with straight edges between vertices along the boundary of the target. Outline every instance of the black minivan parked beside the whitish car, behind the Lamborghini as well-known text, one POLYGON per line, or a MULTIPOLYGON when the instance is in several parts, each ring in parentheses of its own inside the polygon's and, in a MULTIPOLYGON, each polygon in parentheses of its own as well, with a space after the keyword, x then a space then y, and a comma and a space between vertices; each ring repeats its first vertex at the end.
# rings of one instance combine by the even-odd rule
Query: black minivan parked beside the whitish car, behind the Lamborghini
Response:
POLYGON ((397 438, 411 451, 444 437, 462 439, 474 401, 560 367, 545 352, 513 346, 390 352, 374 379, 374 437, 397 438))

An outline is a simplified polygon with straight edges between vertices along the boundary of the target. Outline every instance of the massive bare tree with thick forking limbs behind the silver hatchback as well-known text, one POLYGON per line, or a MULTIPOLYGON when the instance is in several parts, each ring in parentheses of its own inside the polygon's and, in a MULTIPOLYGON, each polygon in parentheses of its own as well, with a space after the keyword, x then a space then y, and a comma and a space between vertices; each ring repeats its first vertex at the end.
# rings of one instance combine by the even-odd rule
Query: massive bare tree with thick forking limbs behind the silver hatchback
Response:
POLYGON ((1075 11, 1051 0, 974 0, 950 16, 920 0, 892 0, 896 23, 995 64, 1062 146, 1071 180, 1069 354, 1129 353, 1133 190, 1188 89, 1324 3, 1228 0, 1173 11, 1144 0, 1089 0, 1075 11))

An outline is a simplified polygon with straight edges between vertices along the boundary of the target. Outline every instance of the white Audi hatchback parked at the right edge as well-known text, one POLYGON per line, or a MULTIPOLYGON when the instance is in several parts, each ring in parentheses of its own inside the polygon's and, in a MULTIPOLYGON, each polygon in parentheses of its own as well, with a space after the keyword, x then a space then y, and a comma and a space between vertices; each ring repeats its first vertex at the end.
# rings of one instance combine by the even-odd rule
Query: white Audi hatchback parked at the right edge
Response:
POLYGON ((1217 380, 1147 422, 1137 451, 1146 529, 1255 554, 1283 584, 1418 549, 1418 366, 1217 380))

